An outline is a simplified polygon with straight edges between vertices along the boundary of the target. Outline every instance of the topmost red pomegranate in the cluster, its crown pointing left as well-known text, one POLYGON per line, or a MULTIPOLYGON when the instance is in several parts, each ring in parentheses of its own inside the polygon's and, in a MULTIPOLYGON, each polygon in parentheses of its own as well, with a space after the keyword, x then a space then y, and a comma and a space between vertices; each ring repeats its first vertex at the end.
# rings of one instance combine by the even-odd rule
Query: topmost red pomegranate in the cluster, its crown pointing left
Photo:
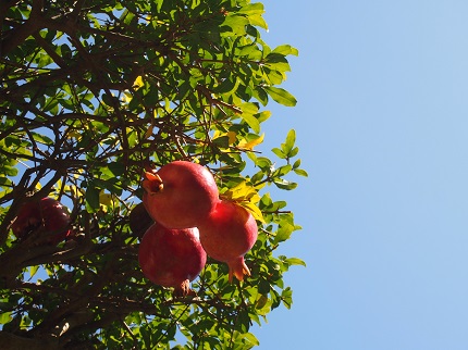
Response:
POLYGON ((196 163, 174 161, 145 172, 143 202, 149 215, 168 228, 196 227, 219 200, 211 173, 196 163))

